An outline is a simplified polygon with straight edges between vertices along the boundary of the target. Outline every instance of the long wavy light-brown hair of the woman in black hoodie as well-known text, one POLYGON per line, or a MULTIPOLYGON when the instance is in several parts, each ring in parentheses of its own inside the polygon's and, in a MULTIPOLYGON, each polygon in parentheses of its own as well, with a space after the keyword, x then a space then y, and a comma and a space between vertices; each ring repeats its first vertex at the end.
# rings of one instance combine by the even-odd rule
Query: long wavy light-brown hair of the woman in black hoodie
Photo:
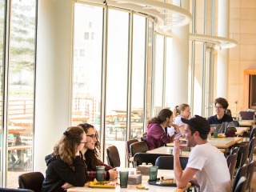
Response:
POLYGON ((73 166, 74 158, 78 146, 82 141, 84 130, 79 126, 70 126, 63 133, 62 138, 54 146, 55 157, 62 159, 69 166, 73 166))

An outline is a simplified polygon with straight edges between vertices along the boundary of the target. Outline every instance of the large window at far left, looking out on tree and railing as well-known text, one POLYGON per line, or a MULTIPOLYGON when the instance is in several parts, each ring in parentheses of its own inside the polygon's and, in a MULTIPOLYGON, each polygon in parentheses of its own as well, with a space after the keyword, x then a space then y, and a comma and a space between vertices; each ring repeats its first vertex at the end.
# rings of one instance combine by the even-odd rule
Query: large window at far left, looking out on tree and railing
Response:
MULTIPOLYGON (((0 3, 0 34, 6 35, 7 42, 7 46, 3 42, 0 46, 1 83, 7 82, 1 86, 7 90, 4 94, 1 91, 1 98, 6 98, 1 102, 1 139, 6 146, 2 147, 1 157, 5 158, 8 170, 7 184, 2 183, 2 186, 17 187, 18 174, 15 173, 33 170, 36 0, 10 2, 10 12, 6 14, 10 28, 4 23, 4 1, 0 3)), ((6 174, 2 167, 1 170, 2 175, 6 174)))

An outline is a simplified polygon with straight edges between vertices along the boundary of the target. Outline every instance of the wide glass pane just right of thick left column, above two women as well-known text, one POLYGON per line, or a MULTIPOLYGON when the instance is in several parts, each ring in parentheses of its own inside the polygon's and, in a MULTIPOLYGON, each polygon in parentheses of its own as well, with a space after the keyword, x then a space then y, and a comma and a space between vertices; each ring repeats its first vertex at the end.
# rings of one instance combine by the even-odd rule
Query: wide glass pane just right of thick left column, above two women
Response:
POLYGON ((75 3, 72 125, 87 122, 100 134, 102 7, 75 3))

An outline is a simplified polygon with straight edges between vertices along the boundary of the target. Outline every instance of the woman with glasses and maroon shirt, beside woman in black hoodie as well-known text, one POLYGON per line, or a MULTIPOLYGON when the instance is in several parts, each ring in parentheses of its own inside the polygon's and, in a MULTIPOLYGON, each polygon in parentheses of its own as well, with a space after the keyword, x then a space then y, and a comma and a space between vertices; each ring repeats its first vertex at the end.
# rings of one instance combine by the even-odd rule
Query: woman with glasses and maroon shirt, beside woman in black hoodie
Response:
POLYGON ((82 154, 84 154, 86 161, 89 181, 93 181, 96 178, 96 166, 105 166, 105 180, 118 178, 118 171, 116 169, 99 160, 100 142, 98 141, 98 134, 94 126, 88 123, 82 123, 78 126, 82 127, 87 136, 87 142, 82 149, 82 154))

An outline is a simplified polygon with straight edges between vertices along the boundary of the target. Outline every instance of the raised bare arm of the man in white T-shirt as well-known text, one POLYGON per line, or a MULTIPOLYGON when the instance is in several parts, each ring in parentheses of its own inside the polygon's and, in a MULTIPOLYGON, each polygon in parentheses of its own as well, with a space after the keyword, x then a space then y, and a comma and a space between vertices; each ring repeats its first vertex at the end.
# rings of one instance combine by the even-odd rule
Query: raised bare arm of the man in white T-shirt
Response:
POLYGON ((182 170, 182 166, 179 161, 179 152, 179 139, 176 139, 174 141, 174 175, 178 188, 184 188, 186 187, 186 184, 194 177, 197 170, 190 167, 186 167, 185 170, 182 170))

